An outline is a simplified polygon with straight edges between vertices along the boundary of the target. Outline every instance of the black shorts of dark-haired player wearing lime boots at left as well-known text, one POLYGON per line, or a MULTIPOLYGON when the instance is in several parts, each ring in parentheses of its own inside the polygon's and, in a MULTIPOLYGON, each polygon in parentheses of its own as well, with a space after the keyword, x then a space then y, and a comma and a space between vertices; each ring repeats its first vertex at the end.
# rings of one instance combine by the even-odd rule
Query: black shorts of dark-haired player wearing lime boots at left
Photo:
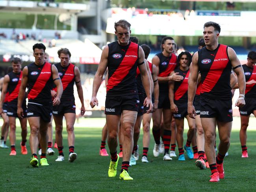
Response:
POLYGON ((52 118, 52 104, 39 105, 28 103, 27 117, 40 117, 44 122, 50 122, 52 118))

